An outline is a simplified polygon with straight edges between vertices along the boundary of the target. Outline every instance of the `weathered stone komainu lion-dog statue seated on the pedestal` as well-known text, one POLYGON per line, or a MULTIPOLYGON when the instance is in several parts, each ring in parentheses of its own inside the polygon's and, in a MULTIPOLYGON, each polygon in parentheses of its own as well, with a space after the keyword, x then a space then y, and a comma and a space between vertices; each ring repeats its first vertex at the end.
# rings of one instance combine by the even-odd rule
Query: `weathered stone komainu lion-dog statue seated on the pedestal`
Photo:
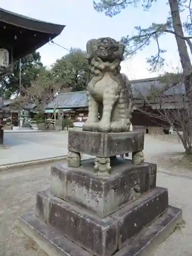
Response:
POLYGON ((124 45, 110 37, 87 42, 89 115, 83 131, 130 131, 133 100, 129 80, 120 73, 123 53, 124 45))

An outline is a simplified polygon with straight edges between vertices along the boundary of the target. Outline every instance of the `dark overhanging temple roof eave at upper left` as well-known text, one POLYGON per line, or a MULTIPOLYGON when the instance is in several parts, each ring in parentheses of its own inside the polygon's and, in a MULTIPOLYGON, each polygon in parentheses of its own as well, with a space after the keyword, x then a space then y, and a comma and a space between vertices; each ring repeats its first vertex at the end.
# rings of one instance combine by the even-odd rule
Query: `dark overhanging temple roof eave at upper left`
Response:
POLYGON ((44 46, 64 28, 0 8, 0 78, 13 72, 16 60, 44 46))

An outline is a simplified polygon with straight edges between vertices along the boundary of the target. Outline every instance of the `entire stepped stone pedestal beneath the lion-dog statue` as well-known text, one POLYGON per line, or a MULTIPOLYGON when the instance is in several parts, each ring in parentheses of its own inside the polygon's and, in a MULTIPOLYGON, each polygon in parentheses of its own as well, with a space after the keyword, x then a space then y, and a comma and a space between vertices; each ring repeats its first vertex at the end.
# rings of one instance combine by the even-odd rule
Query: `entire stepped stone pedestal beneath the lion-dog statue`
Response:
POLYGON ((23 231, 51 256, 150 255, 182 210, 168 205, 166 188, 156 187, 157 166, 143 162, 143 142, 141 132, 71 130, 68 163, 51 168, 50 188, 37 193, 35 212, 19 218, 23 231), (127 152, 132 160, 116 157, 127 152), (80 153, 96 158, 81 161, 80 153), (110 159, 110 172, 96 169, 95 159, 101 165, 110 159))

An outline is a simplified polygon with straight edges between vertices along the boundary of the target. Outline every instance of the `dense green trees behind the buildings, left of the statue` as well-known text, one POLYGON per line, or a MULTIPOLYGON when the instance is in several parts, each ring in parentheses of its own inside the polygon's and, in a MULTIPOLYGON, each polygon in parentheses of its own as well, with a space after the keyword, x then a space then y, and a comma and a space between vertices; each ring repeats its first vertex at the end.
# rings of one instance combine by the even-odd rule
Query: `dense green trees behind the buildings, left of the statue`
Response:
MULTIPOLYGON (((32 98, 34 100, 34 92, 36 91, 37 95, 35 101, 37 101, 39 94, 42 96, 42 91, 46 91, 47 95, 48 89, 50 89, 51 85, 53 86, 54 83, 57 84, 57 87, 58 84, 60 84, 60 89, 71 88, 72 91, 82 91, 86 89, 89 74, 86 52, 80 49, 71 49, 69 54, 56 60, 51 70, 43 67, 40 59, 38 52, 31 53, 21 59, 21 94, 23 96, 31 93, 33 94, 32 98), (40 84, 40 89, 38 90, 37 85, 34 86, 36 83, 40 84), (27 92, 27 90, 31 92, 27 92)), ((0 79, 0 94, 3 95, 4 99, 10 98, 14 94, 18 95, 19 61, 16 61, 14 64, 13 74, 8 74, 2 78, 0 77, 0 79)))

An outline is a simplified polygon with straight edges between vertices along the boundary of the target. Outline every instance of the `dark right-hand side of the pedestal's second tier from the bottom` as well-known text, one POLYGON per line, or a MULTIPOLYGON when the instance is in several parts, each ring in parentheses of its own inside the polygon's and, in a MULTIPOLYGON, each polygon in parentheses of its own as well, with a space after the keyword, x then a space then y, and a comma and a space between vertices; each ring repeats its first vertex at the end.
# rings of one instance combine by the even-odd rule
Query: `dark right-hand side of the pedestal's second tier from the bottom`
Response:
POLYGON ((129 243, 144 226, 159 217, 168 208, 168 191, 155 188, 138 200, 114 212, 112 218, 119 222, 119 249, 129 243))

